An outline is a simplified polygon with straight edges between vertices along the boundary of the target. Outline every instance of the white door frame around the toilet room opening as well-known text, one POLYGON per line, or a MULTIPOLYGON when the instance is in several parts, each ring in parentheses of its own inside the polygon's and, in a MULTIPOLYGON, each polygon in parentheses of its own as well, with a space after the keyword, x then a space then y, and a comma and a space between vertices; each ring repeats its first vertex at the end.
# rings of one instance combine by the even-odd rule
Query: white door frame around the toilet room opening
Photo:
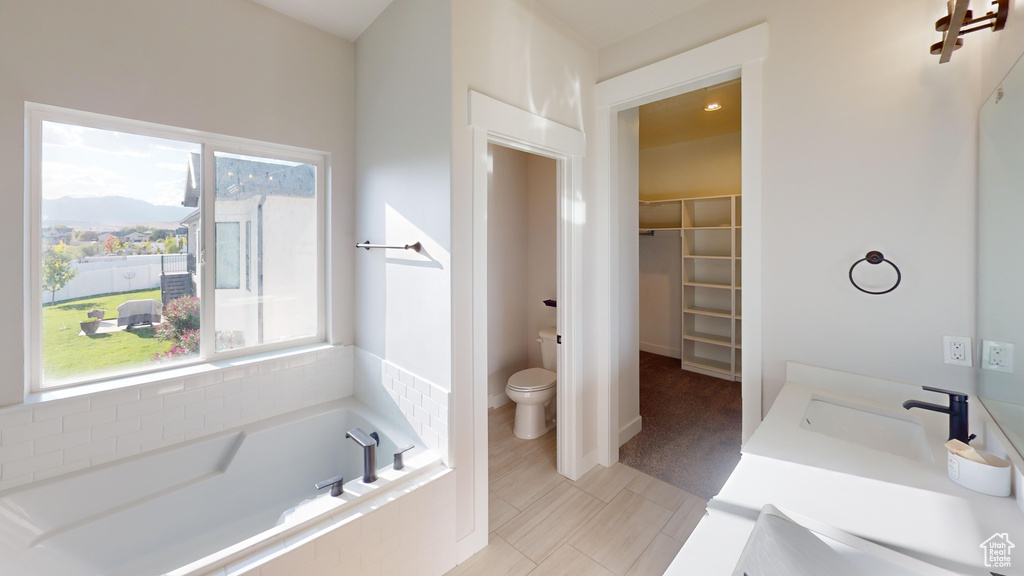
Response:
POLYGON ((469 92, 473 130, 473 518, 478 547, 487 538, 487 145, 497 143, 557 162, 558 173, 558 471, 579 479, 583 438, 583 387, 577 312, 583 298, 582 277, 584 133, 478 92, 469 92), (482 542, 482 543, 481 543, 482 542))

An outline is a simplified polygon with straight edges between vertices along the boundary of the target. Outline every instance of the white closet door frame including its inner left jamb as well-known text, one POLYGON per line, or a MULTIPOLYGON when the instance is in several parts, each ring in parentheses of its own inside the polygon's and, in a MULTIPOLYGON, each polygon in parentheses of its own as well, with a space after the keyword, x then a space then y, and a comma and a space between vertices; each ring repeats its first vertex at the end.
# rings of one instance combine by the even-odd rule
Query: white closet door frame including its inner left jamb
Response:
POLYGON ((618 459, 620 439, 629 438, 630 427, 641 427, 638 414, 634 419, 628 410, 630 395, 639 385, 638 359, 630 362, 639 348, 635 294, 639 271, 632 255, 636 253, 639 206, 638 195, 628 190, 629 182, 636 181, 630 177, 631 171, 638 168, 629 151, 639 148, 639 134, 631 131, 636 125, 630 121, 631 111, 635 115, 640 106, 736 79, 742 80, 743 122, 741 441, 745 442, 761 422, 761 92, 767 32, 767 25, 758 25, 598 84, 597 148, 599 160, 606 166, 598 171, 597 186, 607 202, 612 232, 607 274, 618 279, 604 295, 609 312, 608 367, 607 380, 599 382, 599 389, 607 392, 599 396, 598 420, 598 458, 603 465, 618 459), (624 405, 627 410, 621 409, 624 405))

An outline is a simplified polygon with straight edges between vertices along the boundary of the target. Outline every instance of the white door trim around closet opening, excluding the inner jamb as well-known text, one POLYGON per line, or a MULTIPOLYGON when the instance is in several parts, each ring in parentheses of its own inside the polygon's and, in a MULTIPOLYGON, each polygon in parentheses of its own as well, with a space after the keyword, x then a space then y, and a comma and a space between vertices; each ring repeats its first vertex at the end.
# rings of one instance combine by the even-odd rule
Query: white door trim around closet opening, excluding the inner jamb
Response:
MULTIPOLYGON (((621 111, 683 94, 734 78, 742 78, 742 198, 743 198, 743 361, 742 441, 754 434, 762 418, 761 407, 761 101, 762 60, 768 53, 768 25, 761 24, 721 40, 677 54, 597 85, 596 192, 608 207, 609 254, 602 275, 602 299, 609 315, 602 319, 606 336, 600 346, 608 364, 598 385, 598 460, 610 466, 618 460, 618 346, 614 341, 621 301, 612 285, 612 261, 618 254, 621 222, 618 204, 618 134, 621 111)), ((633 222, 636 225, 636 222, 633 222)), ((621 273, 628 273, 621 271, 621 273)), ((635 272, 633 274, 636 274, 635 272)))

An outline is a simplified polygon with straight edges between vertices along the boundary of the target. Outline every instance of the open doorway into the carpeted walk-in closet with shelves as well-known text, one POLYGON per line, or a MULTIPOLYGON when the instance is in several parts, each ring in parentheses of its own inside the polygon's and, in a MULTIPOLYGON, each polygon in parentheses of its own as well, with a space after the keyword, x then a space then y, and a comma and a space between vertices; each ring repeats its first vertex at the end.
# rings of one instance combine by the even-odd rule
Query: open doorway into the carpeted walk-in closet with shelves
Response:
MULTIPOLYGON (((637 408, 620 460, 710 499, 742 423, 741 83, 634 109, 639 243, 637 408)), ((626 154, 624 154, 626 156, 626 154)), ((624 182, 625 183, 625 182, 624 182)))

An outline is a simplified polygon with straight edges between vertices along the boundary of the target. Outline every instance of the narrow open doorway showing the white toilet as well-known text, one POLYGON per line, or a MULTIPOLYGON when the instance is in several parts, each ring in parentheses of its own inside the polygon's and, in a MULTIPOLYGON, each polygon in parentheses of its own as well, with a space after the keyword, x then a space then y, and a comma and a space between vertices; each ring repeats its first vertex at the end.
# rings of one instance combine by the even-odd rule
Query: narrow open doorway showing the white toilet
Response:
POLYGON ((557 162, 498 143, 487 159, 488 484, 521 506, 545 488, 539 478, 560 478, 557 162))

